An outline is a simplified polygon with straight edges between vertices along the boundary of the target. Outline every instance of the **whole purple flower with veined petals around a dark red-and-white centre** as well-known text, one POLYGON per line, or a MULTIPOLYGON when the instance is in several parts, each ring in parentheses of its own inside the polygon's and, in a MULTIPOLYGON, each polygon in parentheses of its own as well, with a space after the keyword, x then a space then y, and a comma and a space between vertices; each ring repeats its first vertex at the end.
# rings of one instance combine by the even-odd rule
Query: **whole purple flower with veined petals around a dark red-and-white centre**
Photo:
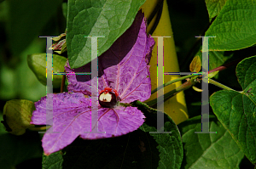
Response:
MULTIPOLYGON (((119 93, 119 103, 145 101, 151 94, 148 62, 154 47, 154 39, 148 37, 142 13, 138 13, 131 27, 113 43, 98 59, 99 77, 97 91, 111 87, 119 93)), ((90 64, 78 69, 65 67, 69 72, 90 72, 90 64)), ((97 77, 92 77, 93 79, 97 77)), ((112 108, 98 107, 98 132, 90 132, 96 124, 91 123, 91 77, 67 75, 69 93, 50 94, 53 97, 53 118, 46 117, 46 97, 35 103, 32 124, 49 125, 52 133, 44 134, 44 154, 49 155, 71 144, 78 136, 84 139, 111 138, 137 130, 143 125, 145 116, 136 107, 122 106, 112 108), (105 132, 105 133, 103 133, 105 132)), ((95 87, 95 86, 92 86, 95 87)))

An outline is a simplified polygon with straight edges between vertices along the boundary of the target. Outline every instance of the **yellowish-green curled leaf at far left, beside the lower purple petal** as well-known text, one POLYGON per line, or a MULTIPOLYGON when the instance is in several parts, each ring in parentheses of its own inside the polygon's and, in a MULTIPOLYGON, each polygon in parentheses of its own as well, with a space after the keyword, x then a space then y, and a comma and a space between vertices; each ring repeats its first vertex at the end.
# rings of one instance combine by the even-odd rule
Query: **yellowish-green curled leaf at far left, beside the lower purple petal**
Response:
POLYGON ((6 102, 3 107, 3 121, 7 131, 22 135, 26 128, 34 125, 30 124, 32 111, 36 110, 34 103, 26 99, 13 99, 6 102))

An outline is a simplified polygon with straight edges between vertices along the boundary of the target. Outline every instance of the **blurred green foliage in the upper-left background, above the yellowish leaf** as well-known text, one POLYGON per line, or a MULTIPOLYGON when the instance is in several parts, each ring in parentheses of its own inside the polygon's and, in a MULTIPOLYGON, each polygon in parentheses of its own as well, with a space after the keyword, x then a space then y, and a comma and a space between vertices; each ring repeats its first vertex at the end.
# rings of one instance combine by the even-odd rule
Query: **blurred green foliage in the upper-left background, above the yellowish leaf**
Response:
POLYGON ((46 87, 29 69, 28 54, 45 53, 45 38, 66 29, 61 0, 3 1, 0 3, 0 99, 38 101, 46 87))

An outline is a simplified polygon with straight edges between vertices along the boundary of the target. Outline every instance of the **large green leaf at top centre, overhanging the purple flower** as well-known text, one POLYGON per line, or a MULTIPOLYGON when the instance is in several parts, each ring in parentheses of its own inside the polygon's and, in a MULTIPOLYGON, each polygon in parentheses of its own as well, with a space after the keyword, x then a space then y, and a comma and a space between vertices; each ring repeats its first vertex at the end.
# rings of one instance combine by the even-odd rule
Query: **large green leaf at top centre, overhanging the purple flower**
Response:
POLYGON ((98 56, 108 50, 132 24, 145 0, 75 1, 67 4, 67 53, 69 65, 90 62, 90 38, 98 38, 98 56))

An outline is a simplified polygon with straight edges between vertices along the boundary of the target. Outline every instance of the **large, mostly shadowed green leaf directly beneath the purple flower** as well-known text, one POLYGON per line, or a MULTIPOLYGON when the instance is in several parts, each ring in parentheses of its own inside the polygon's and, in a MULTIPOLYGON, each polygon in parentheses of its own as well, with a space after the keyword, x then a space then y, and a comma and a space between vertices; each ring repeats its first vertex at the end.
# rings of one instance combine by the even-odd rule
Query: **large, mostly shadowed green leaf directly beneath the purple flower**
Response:
POLYGON ((139 105, 147 121, 137 131, 117 138, 83 140, 44 156, 43 168, 180 168, 183 146, 175 123, 165 115, 165 130, 156 132, 156 111, 139 105))

